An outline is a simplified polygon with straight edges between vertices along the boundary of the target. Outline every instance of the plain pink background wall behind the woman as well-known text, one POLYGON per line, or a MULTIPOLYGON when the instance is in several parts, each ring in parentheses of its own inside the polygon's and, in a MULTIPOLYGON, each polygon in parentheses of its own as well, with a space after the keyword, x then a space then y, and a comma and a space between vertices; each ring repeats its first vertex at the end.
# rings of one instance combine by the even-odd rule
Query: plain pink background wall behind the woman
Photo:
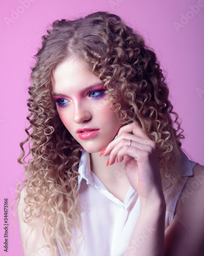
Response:
POLYGON ((10 208, 9 252, 4 252, 3 204, 4 198, 12 203, 17 195, 16 184, 23 179, 23 167, 17 163, 17 158, 20 155, 19 142, 25 139, 24 128, 28 126, 25 117, 28 115, 27 87, 32 56, 41 46, 41 36, 45 34, 47 24, 56 19, 72 19, 100 10, 121 16, 127 24, 138 29, 155 49, 162 68, 166 70, 174 110, 183 120, 186 136, 183 148, 191 159, 204 164, 204 1, 4 1, 0 19, 1 255, 22 255, 17 223, 13 230, 10 208), (194 13, 191 7, 198 4, 202 7, 194 7, 194 13))

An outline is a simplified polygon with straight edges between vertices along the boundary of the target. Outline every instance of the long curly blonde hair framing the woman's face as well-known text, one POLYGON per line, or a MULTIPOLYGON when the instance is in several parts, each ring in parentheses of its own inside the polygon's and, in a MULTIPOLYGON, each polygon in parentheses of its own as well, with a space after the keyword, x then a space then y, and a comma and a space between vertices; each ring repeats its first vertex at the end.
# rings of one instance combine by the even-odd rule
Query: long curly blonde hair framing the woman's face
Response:
MULTIPOLYGON (((50 248, 56 252, 57 239, 68 255, 71 245, 66 241, 72 240, 71 227, 80 227, 77 188, 82 147, 63 125, 52 99, 50 77, 55 67, 73 56, 89 64, 104 81, 120 120, 124 124, 137 121, 156 142, 163 178, 165 172, 173 176, 184 136, 178 115, 172 111, 156 54, 120 17, 96 12, 76 20, 57 20, 47 33, 32 68, 28 100, 31 113, 27 117, 30 126, 25 129, 27 139, 20 143, 18 162, 25 167, 25 221, 29 222, 38 209, 44 218, 43 229, 49 234, 50 248), (25 154, 23 146, 27 142, 29 152, 25 154), (26 161, 29 155, 32 158, 26 161)), ((19 185, 18 193, 19 198, 19 185)))

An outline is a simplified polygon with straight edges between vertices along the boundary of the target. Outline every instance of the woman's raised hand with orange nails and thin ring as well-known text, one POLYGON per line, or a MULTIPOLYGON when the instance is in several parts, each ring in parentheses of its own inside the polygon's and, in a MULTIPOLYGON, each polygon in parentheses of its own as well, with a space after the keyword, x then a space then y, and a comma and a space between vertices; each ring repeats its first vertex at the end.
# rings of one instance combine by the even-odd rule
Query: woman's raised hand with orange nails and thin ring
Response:
POLYGON ((116 158, 117 162, 123 161, 127 178, 140 200, 152 201, 156 199, 155 196, 163 200, 156 143, 137 122, 122 126, 117 138, 109 143, 103 155, 110 155, 109 165, 115 163, 116 158))

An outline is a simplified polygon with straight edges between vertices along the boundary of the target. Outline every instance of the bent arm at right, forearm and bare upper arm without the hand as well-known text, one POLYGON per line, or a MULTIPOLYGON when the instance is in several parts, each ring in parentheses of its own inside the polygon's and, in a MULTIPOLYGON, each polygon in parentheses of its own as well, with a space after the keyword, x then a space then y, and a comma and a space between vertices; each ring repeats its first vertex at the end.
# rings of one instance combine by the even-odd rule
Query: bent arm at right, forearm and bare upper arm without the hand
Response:
POLYGON ((204 166, 196 165, 193 173, 182 191, 165 236, 164 207, 155 200, 152 208, 141 209, 125 256, 204 255, 204 166))

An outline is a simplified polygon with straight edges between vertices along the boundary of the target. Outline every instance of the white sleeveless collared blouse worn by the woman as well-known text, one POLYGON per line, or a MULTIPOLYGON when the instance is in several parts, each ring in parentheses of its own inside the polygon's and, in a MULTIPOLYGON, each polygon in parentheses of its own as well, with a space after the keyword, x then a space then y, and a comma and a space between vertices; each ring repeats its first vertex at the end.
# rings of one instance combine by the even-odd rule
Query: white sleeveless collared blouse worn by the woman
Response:
MULTIPOLYGON (((192 168, 197 164, 188 159, 181 152, 182 172, 181 176, 187 181, 193 174, 192 168)), ((78 190, 79 205, 82 207, 81 229, 82 237, 72 243, 72 256, 121 256, 124 255, 129 244, 131 234, 140 214, 140 199, 136 191, 130 187, 124 202, 113 196, 105 185, 90 169, 89 153, 83 150, 79 165, 78 190)), ((163 181, 163 186, 168 183, 163 181)), ((173 220, 177 200, 184 188, 185 182, 179 182, 177 190, 167 189, 164 192, 167 209, 165 216, 165 228, 173 220), (170 213, 170 212, 171 213, 170 213)), ((151 232, 145 227, 146 232, 151 232)), ((78 238, 76 230, 72 230, 74 239, 78 238)), ((143 238, 138 238, 134 244, 140 246, 143 238)), ((59 246, 61 256, 65 256, 59 246)))

